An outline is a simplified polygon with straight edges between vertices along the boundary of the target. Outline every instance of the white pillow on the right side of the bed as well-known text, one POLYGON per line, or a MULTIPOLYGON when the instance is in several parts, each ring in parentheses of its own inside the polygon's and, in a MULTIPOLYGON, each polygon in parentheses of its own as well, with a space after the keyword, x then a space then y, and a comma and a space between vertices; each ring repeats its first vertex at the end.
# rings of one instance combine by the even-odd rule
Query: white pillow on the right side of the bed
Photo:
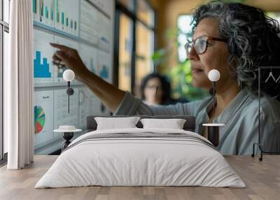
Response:
POLYGON ((141 119, 144 129, 148 128, 164 128, 164 129, 183 129, 186 120, 183 119, 141 119))

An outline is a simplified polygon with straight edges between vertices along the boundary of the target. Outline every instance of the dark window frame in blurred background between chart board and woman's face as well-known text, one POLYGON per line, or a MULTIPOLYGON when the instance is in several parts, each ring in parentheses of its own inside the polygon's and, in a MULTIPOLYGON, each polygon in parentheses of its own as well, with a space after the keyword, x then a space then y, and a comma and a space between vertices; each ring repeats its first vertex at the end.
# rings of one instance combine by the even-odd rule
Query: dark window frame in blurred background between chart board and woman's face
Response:
MULTIPOLYGON (((124 14, 127 17, 129 17, 132 20, 132 66, 131 66, 131 92, 134 94, 134 87, 135 87, 135 71, 136 71, 136 57, 137 57, 137 42, 136 42, 136 33, 137 33, 137 22, 140 22, 141 24, 144 25, 147 29, 150 29, 153 31, 153 38, 154 38, 154 43, 153 43, 153 50, 156 49, 156 34, 155 34, 155 27, 157 25, 156 21, 156 13, 155 9, 153 6, 151 6, 151 3, 149 3, 147 0, 146 3, 148 6, 150 6, 151 10, 153 10, 154 13, 154 23, 153 27, 149 26, 146 24, 146 22, 142 21, 137 17, 137 0, 134 0, 134 10, 130 10, 126 6, 123 5, 123 3, 120 3, 119 1, 116 1, 116 12, 115 12, 115 29, 114 29, 114 58, 113 58, 113 85, 118 87, 118 69, 119 69, 119 36, 120 36, 120 15, 124 14)), ((154 64, 154 69, 155 71, 155 64, 154 64)))

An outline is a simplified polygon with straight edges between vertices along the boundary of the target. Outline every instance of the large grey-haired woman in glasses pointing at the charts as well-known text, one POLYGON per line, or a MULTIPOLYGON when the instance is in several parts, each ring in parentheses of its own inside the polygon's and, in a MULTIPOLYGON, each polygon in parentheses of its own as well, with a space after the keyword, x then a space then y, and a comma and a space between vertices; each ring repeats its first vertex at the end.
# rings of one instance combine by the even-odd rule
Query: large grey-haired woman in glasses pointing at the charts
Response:
MULTIPOLYGON (((211 90, 207 75, 211 69, 220 71, 215 110, 211 97, 148 106, 90 73, 76 50, 53 44, 59 49, 53 59, 72 69, 114 115, 194 115, 195 132, 201 135, 205 134, 203 123, 223 123, 218 150, 223 155, 251 155, 258 141, 258 66, 280 64, 279 24, 258 8, 212 1, 195 10, 193 27, 193 41, 186 44, 192 84, 211 90)), ((280 102, 270 97, 279 94, 279 85, 266 87, 260 98, 261 140, 267 151, 280 150, 280 102)))

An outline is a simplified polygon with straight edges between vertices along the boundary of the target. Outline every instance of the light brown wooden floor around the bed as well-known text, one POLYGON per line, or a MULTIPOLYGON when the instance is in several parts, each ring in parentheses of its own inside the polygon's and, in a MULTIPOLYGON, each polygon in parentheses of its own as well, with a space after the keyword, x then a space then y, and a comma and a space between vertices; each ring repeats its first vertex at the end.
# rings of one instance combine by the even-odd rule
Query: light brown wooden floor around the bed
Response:
POLYGON ((19 171, 0 169, 0 199, 280 199, 280 156, 262 162, 251 157, 226 157, 247 187, 71 187, 34 189, 57 156, 35 156, 34 164, 19 171))

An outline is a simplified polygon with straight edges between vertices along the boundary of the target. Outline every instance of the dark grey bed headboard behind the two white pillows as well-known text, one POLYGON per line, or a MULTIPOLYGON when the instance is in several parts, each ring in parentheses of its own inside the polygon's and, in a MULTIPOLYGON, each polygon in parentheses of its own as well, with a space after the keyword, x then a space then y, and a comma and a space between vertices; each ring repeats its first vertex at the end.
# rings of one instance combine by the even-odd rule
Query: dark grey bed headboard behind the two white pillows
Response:
MULTIPOLYGON (((195 117, 190 115, 135 115, 141 118, 153 118, 153 119, 184 119, 186 120, 183 125, 183 129, 186 131, 195 131, 195 117)), ((94 120, 94 117, 130 117, 128 115, 113 115, 113 116, 102 116, 102 115, 92 115, 87 117, 87 131, 95 131, 97 129, 97 122, 94 120)), ((139 122, 136 124, 138 128, 143 128, 143 124, 139 122)))

